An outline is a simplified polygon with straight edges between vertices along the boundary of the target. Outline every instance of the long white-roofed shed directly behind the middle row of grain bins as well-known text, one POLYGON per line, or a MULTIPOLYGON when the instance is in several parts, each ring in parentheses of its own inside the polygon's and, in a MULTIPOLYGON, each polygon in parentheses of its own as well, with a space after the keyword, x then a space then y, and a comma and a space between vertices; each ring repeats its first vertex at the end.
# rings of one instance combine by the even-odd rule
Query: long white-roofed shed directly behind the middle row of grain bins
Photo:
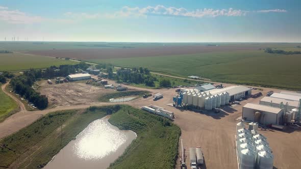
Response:
POLYGON ((206 93, 211 93, 212 95, 220 94, 223 92, 228 92, 230 96, 230 100, 237 100, 243 97, 250 96, 252 93, 252 89, 244 87, 244 86, 231 86, 223 89, 212 89, 206 91, 206 93))

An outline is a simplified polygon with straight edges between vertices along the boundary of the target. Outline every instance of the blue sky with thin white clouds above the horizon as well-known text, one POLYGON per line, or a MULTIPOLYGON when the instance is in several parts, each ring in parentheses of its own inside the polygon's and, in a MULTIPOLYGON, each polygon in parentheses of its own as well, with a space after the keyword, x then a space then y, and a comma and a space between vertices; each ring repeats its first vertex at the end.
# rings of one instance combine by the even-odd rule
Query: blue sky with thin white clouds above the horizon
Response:
POLYGON ((0 41, 301 42, 299 0, 0 0, 0 41))

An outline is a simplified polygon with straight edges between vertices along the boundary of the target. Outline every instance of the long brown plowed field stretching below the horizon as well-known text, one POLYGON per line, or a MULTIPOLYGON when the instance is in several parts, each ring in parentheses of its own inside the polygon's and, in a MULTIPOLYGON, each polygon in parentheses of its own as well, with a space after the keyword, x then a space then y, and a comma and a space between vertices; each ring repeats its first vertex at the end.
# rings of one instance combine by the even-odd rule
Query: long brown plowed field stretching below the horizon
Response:
POLYGON ((256 46, 242 45, 187 45, 187 46, 160 46, 148 48, 102 48, 102 49, 55 49, 55 50, 30 50, 27 53, 47 57, 76 58, 76 59, 112 59, 133 57, 154 57, 160 55, 194 54, 203 52, 231 52, 237 50, 256 50, 256 46))

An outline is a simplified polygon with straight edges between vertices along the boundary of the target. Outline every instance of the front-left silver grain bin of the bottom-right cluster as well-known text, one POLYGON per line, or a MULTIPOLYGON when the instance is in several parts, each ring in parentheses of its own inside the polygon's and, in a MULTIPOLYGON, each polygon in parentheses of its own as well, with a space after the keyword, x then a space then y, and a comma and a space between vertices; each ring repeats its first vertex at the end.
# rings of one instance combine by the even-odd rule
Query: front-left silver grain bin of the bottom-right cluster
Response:
POLYGON ((255 168, 255 153, 249 149, 243 149, 240 151, 239 168, 241 169, 253 169, 255 168))

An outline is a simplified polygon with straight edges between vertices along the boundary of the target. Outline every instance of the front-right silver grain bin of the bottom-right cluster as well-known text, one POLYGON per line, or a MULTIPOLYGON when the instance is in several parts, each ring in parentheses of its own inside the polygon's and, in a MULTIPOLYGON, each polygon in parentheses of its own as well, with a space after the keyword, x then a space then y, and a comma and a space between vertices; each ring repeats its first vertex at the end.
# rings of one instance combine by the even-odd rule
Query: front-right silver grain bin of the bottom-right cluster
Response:
POLYGON ((261 151, 258 153, 257 156, 257 166, 259 169, 272 169, 273 168, 273 161, 274 156, 266 151, 261 151))

